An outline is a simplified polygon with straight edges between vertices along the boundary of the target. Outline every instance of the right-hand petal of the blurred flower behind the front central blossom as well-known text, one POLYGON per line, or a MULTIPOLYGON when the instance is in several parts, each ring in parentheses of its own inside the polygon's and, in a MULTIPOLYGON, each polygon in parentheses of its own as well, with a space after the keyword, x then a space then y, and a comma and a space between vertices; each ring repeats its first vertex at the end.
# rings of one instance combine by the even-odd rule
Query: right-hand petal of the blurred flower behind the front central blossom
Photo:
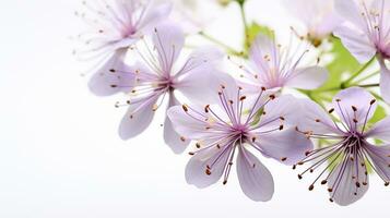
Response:
POLYGON ((311 66, 298 69, 287 78, 285 86, 300 89, 315 89, 328 80, 328 71, 323 68, 311 66))

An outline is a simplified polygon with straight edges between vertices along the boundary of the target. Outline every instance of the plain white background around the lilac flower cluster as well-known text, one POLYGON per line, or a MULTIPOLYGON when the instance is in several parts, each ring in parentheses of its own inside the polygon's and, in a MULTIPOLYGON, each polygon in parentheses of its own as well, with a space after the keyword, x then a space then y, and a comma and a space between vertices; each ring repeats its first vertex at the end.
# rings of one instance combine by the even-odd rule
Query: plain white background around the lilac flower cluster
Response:
MULTIPOLYGON (((263 22, 286 24, 277 3, 255 1, 249 11, 263 22)), ((275 194, 271 202, 255 203, 241 193, 235 173, 226 186, 188 185, 184 169, 189 157, 164 145, 162 119, 139 137, 120 141, 117 125, 123 111, 114 108, 116 97, 90 94, 87 80, 80 76, 85 68, 71 56, 69 36, 80 29, 73 16, 79 5, 79 0, 1 0, 0 217, 388 214, 390 190, 377 177, 362 201, 340 207, 328 202, 326 189, 309 192, 310 180, 298 181, 289 167, 261 158, 273 172, 275 194)), ((240 25, 234 23, 239 17, 224 16, 215 28, 239 45, 240 25)))

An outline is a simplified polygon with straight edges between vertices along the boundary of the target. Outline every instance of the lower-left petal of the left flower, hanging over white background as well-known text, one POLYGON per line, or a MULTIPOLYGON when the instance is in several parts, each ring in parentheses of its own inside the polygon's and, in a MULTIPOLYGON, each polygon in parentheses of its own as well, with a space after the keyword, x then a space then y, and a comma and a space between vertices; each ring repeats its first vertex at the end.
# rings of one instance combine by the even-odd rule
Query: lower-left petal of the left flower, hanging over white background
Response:
POLYGON ((119 125, 119 136, 122 140, 130 140, 141 134, 152 122, 154 117, 153 107, 156 98, 149 100, 146 104, 140 102, 130 106, 119 125), (134 111, 137 112, 134 113, 134 111))

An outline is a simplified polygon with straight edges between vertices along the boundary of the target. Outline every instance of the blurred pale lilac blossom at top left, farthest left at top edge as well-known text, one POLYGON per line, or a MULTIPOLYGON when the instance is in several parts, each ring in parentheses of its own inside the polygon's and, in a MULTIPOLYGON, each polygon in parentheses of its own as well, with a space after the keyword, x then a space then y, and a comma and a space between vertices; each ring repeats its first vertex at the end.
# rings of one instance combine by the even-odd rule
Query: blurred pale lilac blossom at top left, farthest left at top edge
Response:
POLYGON ((76 12, 76 15, 91 29, 79 35, 83 48, 74 52, 81 60, 98 60, 96 74, 123 66, 128 48, 153 32, 172 8, 168 3, 156 4, 151 0, 83 1, 83 5, 85 12, 76 12))

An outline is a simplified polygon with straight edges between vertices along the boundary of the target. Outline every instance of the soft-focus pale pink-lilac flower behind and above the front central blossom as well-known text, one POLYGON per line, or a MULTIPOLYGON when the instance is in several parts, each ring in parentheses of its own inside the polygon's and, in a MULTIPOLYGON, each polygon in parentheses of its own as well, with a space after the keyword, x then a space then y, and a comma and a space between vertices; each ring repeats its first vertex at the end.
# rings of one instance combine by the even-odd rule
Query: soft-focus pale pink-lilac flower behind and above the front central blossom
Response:
MULTIPOLYGON (((299 46, 300 47, 300 46, 299 46)), ((244 70, 243 83, 253 92, 265 88, 315 89, 328 78, 328 71, 319 66, 300 68, 308 50, 283 47, 270 37, 259 35, 249 53, 249 66, 244 70)))

